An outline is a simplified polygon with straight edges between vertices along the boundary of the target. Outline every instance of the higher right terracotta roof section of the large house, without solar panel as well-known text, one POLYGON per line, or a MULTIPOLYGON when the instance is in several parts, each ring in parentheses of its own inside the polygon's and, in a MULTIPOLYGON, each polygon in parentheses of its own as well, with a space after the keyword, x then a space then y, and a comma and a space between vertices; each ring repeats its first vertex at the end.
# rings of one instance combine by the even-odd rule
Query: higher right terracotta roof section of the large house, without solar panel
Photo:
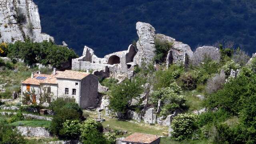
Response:
POLYGON ((78 72, 73 70, 65 70, 64 72, 57 71, 56 78, 64 78, 70 80, 82 80, 86 76, 90 75, 87 72, 78 72))

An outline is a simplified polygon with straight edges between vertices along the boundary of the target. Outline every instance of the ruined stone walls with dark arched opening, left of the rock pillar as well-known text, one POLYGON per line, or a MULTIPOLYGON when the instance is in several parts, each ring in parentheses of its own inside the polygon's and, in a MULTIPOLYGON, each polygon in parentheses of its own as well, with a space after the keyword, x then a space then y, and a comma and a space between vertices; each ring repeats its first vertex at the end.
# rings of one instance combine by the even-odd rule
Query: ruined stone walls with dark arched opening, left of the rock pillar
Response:
POLYGON ((123 80, 133 76, 134 66, 133 58, 136 55, 136 49, 131 44, 128 50, 114 52, 98 58, 94 50, 84 47, 83 56, 72 60, 72 70, 89 71, 102 78, 113 77, 123 80))

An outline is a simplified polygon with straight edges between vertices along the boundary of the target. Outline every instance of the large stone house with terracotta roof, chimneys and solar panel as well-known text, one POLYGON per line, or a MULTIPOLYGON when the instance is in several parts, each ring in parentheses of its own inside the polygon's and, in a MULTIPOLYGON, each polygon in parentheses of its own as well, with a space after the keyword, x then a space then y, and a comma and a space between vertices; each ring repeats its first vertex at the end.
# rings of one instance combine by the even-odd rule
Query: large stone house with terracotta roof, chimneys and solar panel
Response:
MULTIPOLYGON (((51 100, 63 97, 73 98, 81 108, 95 107, 98 98, 98 77, 88 72, 72 70, 54 71, 52 74, 31 74, 31 77, 22 83, 22 93, 35 90, 32 102, 38 103, 40 85, 54 94, 51 100)), ((22 94, 23 98, 23 94, 22 94)))

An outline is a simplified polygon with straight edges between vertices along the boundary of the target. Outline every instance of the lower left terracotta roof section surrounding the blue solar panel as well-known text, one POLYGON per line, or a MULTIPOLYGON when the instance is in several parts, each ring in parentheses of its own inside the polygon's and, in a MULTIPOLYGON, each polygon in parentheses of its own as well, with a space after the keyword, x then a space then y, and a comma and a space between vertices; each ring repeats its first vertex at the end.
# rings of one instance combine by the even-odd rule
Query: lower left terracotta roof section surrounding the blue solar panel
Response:
POLYGON ((32 85, 39 85, 42 84, 57 84, 57 79, 53 74, 34 74, 34 78, 28 78, 21 82, 22 84, 32 84, 32 85), (44 80, 38 80, 36 77, 46 77, 44 80))

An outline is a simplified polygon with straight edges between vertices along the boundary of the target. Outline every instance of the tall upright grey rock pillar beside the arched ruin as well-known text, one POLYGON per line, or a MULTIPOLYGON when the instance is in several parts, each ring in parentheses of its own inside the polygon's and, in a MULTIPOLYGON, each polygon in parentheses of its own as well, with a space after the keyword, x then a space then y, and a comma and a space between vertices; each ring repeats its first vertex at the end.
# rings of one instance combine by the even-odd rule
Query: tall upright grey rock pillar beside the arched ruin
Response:
POLYGON ((136 56, 134 56, 134 62, 141 66, 144 61, 146 64, 151 62, 154 57, 155 43, 155 28, 148 23, 137 22, 136 30, 139 36, 139 40, 137 42, 138 52, 136 56))

